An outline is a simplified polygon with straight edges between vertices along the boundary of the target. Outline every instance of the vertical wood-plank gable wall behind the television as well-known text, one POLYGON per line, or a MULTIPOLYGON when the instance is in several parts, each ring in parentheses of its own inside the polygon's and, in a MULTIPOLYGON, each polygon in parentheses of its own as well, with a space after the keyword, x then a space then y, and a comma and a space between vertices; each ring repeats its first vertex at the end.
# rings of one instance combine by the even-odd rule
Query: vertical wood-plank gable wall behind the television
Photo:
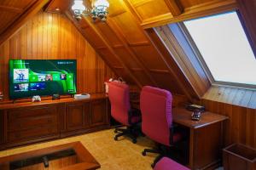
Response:
POLYGON ((78 93, 101 93, 113 71, 65 15, 40 12, 0 47, 0 91, 9 99, 9 59, 77 59, 78 93))

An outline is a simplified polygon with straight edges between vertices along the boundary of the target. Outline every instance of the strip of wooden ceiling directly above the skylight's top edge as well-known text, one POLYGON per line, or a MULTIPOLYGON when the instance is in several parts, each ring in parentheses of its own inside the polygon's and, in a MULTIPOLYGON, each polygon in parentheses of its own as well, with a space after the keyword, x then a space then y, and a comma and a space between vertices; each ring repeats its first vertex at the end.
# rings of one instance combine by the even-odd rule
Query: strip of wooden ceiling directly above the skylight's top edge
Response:
POLYGON ((143 28, 236 9, 236 0, 125 0, 143 28))

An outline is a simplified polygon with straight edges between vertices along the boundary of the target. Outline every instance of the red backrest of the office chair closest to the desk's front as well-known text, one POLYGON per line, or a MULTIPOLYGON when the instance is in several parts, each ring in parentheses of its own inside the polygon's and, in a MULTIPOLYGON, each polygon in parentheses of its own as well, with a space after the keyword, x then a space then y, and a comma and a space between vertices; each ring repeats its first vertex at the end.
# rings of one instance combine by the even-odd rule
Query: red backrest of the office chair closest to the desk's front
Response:
POLYGON ((172 127, 172 94, 164 89, 143 87, 140 97, 142 128, 150 139, 170 145, 172 127))

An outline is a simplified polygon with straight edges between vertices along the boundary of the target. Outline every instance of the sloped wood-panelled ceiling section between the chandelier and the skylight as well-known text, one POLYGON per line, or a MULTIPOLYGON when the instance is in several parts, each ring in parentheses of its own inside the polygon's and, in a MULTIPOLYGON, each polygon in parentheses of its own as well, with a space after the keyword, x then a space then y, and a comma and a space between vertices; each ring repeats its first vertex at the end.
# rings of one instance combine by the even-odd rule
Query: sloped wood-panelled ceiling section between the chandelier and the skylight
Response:
POLYGON ((108 60, 114 70, 131 74, 139 87, 151 85, 185 95, 190 100, 199 99, 201 94, 197 94, 183 76, 154 31, 143 30, 125 1, 108 2, 106 23, 93 23, 89 17, 74 20, 71 10, 66 14, 102 58, 108 60))

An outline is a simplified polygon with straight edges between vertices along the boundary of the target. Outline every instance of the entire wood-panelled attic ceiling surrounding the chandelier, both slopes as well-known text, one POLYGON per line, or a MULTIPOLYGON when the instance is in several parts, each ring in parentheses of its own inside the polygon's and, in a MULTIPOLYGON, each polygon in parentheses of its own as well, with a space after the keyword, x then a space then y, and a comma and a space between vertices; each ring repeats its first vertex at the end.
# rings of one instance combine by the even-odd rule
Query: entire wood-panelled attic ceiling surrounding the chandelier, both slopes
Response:
MULTIPOLYGON (((88 1, 88 0, 87 0, 88 1)), ((250 0, 247 0, 248 2, 250 0)), ((255 1, 255 0, 253 0, 255 1)), ((85 1, 84 1, 85 2, 85 1)), ((78 21, 70 9, 73 0, 2 0, 0 3, 0 44, 27 18, 44 7, 47 12, 66 14, 82 35, 96 49, 113 71, 126 82, 138 87, 152 85, 166 88, 173 94, 186 96, 190 101, 200 99, 210 88, 206 83, 198 89, 200 82, 191 78, 177 65, 165 42, 152 29, 155 26, 180 20, 189 20, 208 14, 241 9, 236 0, 108 0, 108 20, 93 22, 90 17, 78 21), (59 8, 59 10, 55 10, 59 8)), ((87 2, 88 3, 88 2, 87 2)), ((254 4, 254 3, 253 3, 254 4)), ((255 4, 254 4, 255 5, 255 4)), ((250 13, 254 14, 253 8, 250 13)), ((253 20, 246 20, 252 30, 253 20)), ((248 31, 255 37, 255 33, 248 31)), ((254 32, 254 31, 253 31, 254 32)), ((252 41, 251 42, 255 42, 252 41)), ((193 75, 192 75, 193 77, 193 75)))

